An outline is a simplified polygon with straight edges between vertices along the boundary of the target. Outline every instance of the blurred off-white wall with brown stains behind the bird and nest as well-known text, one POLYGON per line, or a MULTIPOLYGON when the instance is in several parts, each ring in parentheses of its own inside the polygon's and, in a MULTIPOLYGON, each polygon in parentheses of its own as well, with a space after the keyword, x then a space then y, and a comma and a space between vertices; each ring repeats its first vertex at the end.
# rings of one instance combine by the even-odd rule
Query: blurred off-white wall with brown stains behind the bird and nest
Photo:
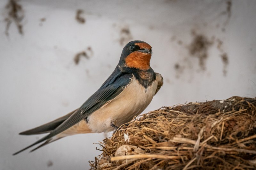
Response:
POLYGON ((255 9, 252 0, 1 0, 0 169, 89 169, 103 133, 12 156, 42 137, 18 133, 80 107, 132 40, 153 47, 151 67, 164 77, 143 113, 255 97, 255 9))

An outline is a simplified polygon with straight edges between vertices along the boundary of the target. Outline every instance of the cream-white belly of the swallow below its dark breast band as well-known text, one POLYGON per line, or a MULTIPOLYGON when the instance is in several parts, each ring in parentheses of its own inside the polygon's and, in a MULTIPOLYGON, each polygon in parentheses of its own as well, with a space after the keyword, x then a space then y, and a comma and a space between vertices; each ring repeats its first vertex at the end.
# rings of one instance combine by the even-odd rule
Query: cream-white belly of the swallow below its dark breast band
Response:
POLYGON ((136 115, 146 109, 156 93, 157 80, 145 89, 133 78, 131 83, 112 101, 93 112, 88 118, 92 132, 112 131, 113 122, 116 126, 128 123, 136 115))

